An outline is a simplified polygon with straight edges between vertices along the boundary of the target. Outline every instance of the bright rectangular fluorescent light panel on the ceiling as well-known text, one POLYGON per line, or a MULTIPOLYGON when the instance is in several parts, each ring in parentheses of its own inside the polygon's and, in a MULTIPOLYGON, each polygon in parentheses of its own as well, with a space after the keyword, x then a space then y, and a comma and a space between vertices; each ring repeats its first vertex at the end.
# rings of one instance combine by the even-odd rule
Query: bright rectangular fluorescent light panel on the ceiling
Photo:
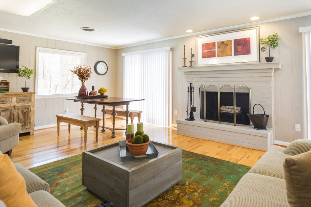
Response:
POLYGON ((0 11, 29 17, 56 2, 57 0, 1 0, 0 11))

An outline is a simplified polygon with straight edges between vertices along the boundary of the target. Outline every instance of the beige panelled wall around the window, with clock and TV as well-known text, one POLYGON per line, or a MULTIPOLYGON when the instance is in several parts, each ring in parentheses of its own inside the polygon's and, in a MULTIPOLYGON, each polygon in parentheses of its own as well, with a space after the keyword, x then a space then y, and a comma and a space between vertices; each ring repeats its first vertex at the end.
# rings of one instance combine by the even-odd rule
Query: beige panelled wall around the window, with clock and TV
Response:
MULTIPOLYGON (((11 39, 13 41, 13 45, 20 46, 20 67, 22 65, 26 65, 29 68, 35 69, 37 46, 76 52, 86 52, 86 64, 90 65, 92 69, 94 69, 94 65, 97 61, 105 61, 108 65, 108 72, 105 75, 97 75, 94 70, 92 70, 93 74, 91 78, 86 81, 86 87, 88 91, 91 91, 92 85, 95 86, 95 90, 100 87, 105 87, 108 89, 107 95, 112 97, 115 96, 115 49, 95 47, 6 31, 0 31, 0 38, 11 39)), ((25 87, 25 78, 18 77, 16 73, 0 73, 0 75, 10 81, 10 92, 20 92, 21 87, 25 87)), ((30 87, 30 91, 35 91, 35 75, 33 75, 30 80, 27 80, 27 86, 30 87)), ((77 102, 65 100, 65 97, 36 99, 35 127, 56 124, 55 115, 65 113, 65 109, 69 109, 69 113, 80 113, 80 106, 81 105, 77 102)), ((84 115, 93 116, 93 107, 94 105, 85 104, 86 110, 84 111, 84 115)), ((101 109, 98 109, 98 116, 101 116, 100 110, 101 109)))

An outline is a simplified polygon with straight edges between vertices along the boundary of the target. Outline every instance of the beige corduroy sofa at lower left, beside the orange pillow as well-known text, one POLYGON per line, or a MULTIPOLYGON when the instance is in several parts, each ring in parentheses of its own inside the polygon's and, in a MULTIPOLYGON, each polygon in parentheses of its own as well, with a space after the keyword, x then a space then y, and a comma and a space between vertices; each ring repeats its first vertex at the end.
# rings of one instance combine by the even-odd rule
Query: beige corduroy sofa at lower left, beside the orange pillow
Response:
MULTIPOLYGON (((2 153, 0 152, 0 154, 2 153)), ((34 173, 30 172, 22 164, 14 163, 14 166, 25 179, 26 191, 37 206, 64 207, 64 205, 60 201, 58 201, 54 196, 50 194, 50 187, 47 182, 39 178, 34 173)), ((2 185, 1 182, 0 185, 2 185)), ((2 206, 5 206, 5 204, 0 202, 0 207, 2 206)))

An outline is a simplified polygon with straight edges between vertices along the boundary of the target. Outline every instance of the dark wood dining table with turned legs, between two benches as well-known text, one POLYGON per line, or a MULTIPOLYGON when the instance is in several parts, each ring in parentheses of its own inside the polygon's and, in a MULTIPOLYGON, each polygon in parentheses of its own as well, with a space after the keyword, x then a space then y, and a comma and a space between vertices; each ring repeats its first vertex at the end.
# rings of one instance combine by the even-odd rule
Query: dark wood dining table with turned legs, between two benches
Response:
POLYGON ((112 131, 111 137, 114 138, 116 137, 115 135, 115 130, 125 130, 125 133, 127 132, 127 125, 128 125, 128 105, 132 101, 144 101, 145 99, 135 99, 135 98, 119 98, 119 97, 107 97, 107 98, 95 98, 95 97, 87 97, 87 98, 66 98, 67 100, 72 100, 72 101, 80 101, 81 102, 81 115, 83 115, 84 111, 84 104, 89 103, 89 104, 95 104, 94 110, 95 110, 95 117, 96 117, 96 110, 97 110, 97 105, 102 105, 103 109, 101 110, 103 112, 103 126, 100 126, 103 128, 101 131, 104 132, 106 131, 105 129, 109 129, 112 131), (116 106, 123 106, 126 105, 126 128, 121 129, 121 128, 115 128, 115 116, 117 113, 115 112, 115 107, 116 106), (105 106, 112 106, 112 128, 110 127, 105 127, 105 114, 106 114, 106 109, 105 106))

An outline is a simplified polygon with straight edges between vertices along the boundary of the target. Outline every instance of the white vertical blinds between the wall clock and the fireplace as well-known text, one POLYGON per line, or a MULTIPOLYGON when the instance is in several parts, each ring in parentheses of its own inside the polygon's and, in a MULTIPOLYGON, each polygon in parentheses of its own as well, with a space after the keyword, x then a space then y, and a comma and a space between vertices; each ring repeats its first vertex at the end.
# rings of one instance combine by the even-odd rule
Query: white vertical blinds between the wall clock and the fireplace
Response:
POLYGON ((123 97, 142 110, 143 122, 168 126, 170 111, 170 47, 123 53, 123 97))

